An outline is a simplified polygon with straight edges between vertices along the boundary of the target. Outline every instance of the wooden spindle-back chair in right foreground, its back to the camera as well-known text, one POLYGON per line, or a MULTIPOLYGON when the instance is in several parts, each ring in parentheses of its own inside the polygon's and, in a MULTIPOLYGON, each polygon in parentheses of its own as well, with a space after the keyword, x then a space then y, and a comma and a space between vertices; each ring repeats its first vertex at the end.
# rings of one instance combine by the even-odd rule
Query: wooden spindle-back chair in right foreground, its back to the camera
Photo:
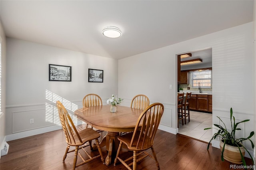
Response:
POLYGON ((120 144, 114 160, 114 166, 116 165, 117 160, 119 160, 127 169, 132 170, 133 168, 133 170, 136 170, 137 162, 149 156, 156 161, 156 166, 160 169, 153 144, 163 112, 164 106, 161 103, 153 103, 142 111, 136 123, 134 132, 118 136, 120 144), (128 150, 133 151, 133 156, 126 160, 122 160, 119 157, 122 144, 125 144, 128 150), (151 148, 153 156, 146 152, 149 148, 151 148), (128 164, 128 162, 131 163, 128 164), (132 166, 132 168, 130 168, 130 166, 132 166))

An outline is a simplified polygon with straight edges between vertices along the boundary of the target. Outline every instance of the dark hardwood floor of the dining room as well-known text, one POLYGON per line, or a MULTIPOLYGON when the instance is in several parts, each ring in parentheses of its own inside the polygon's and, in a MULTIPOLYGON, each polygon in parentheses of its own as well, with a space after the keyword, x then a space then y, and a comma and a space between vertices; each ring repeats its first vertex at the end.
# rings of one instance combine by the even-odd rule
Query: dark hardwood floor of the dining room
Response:
MULTIPOLYGON (((83 128, 80 126, 79 128, 83 128)), ((104 132, 102 134, 104 136, 104 132)), ((9 141, 8 154, 0 159, 0 170, 71 170, 74 152, 69 153, 65 162, 62 158, 66 149, 66 139, 62 130, 38 134, 9 141)), ((230 162, 222 162, 220 149, 180 134, 170 134, 158 130, 154 139, 154 149, 162 170, 229 170, 230 162)), ((90 151, 90 148, 87 147, 90 151)), ((107 155, 106 146, 102 148, 107 155)), ((98 153, 98 151, 93 151, 98 153)), ((151 153, 151 151, 149 150, 151 153)), ((121 156, 128 157, 132 152, 122 149, 121 156)), ((86 157, 86 156, 84 156, 86 157)), ((78 162, 80 157, 78 156, 78 162)), ((113 160, 114 161, 114 160, 113 160)), ((247 164, 251 164, 246 158, 247 164)), ((145 158, 137 165, 140 170, 157 170, 152 158, 145 158)), ((126 170, 120 162, 116 166, 102 164, 100 158, 79 166, 76 170, 126 170)))

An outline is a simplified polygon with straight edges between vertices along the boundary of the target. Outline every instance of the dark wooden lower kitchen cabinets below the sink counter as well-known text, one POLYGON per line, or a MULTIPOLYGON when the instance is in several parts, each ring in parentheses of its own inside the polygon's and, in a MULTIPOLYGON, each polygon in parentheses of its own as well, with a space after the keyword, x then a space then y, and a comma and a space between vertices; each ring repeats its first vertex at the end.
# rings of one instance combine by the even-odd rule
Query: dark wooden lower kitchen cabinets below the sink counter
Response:
POLYGON ((189 101, 189 108, 193 111, 212 113, 212 95, 191 95, 189 101))

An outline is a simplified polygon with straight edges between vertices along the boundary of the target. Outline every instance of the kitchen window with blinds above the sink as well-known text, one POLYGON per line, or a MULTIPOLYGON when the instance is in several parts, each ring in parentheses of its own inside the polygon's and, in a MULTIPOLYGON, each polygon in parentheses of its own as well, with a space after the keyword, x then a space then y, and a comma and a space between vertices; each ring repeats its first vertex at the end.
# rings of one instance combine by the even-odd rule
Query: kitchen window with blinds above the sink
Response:
POLYGON ((202 88, 212 87, 212 70, 192 71, 191 77, 192 87, 198 87, 198 83, 200 83, 202 88))

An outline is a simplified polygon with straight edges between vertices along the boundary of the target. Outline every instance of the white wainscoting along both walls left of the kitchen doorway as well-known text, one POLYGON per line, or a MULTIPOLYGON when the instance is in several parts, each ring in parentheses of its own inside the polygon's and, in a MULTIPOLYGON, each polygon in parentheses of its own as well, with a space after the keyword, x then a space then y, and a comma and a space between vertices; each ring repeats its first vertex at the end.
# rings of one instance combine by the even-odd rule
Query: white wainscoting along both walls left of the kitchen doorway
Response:
MULTIPOLYGON (((102 99, 103 105, 106 105, 106 100, 102 99)), ((131 99, 126 99, 122 105, 130 107, 130 101, 131 99)), ((11 122, 12 125, 8 125, 10 129, 6 135, 6 141, 61 129, 58 110, 55 105, 54 102, 47 102, 36 105, 8 106, 6 111, 9 114, 9 121, 7 122, 11 122), (34 119, 34 123, 30 124, 30 119, 34 119)), ((76 125, 83 123, 74 115, 74 111, 82 107, 82 101, 66 102, 64 106, 76 125)), ((159 129, 176 134, 175 127, 172 127, 175 125, 173 110, 175 110, 174 104, 164 104, 164 114, 159 129)))

